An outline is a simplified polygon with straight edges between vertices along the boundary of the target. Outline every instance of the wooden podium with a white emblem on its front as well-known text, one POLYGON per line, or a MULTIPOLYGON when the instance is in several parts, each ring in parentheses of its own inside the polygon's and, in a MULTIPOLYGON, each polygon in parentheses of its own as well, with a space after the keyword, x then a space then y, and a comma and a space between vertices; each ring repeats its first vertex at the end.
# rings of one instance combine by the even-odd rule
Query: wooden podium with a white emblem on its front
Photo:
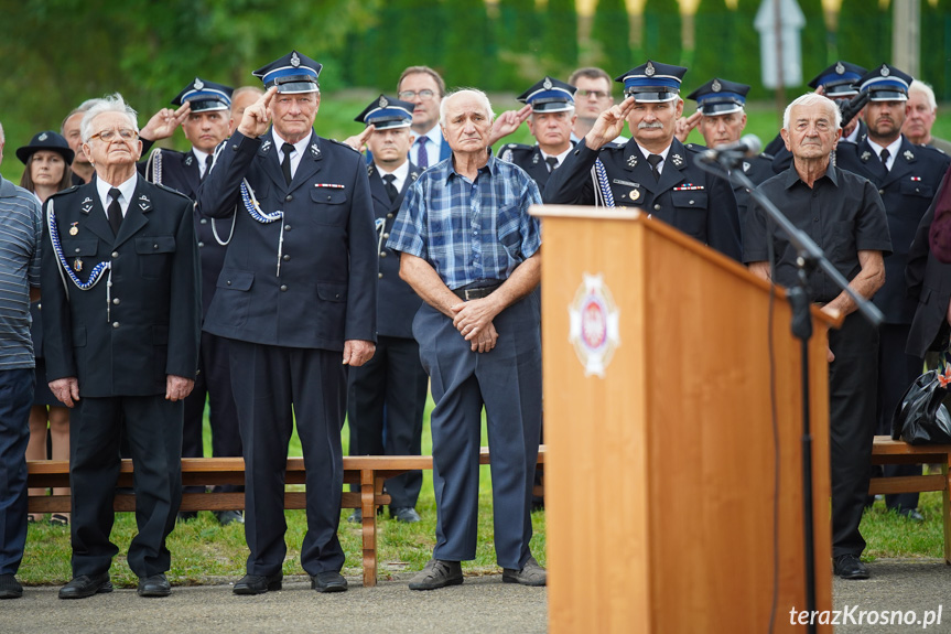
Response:
MULTIPOLYGON (((800 344, 785 293, 774 430, 766 282, 637 211, 532 214, 544 236, 549 630, 767 632, 775 592, 775 631, 803 631, 790 623, 806 572, 800 344)), ((813 324, 817 609, 831 610, 834 322, 814 310, 813 324)))

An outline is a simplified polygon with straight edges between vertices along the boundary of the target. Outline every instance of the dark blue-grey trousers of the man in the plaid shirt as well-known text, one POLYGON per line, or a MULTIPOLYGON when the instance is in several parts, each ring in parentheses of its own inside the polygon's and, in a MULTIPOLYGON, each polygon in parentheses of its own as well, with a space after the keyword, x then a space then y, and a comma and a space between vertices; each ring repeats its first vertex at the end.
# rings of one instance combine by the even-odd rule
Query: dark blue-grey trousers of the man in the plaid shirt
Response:
POLYGON ((475 558, 478 453, 485 407, 491 452, 496 560, 521 568, 531 555, 531 491, 541 426, 541 341, 534 293, 495 321, 501 333, 488 353, 472 352, 450 318, 423 304, 413 320, 430 375, 436 546, 433 557, 475 558))

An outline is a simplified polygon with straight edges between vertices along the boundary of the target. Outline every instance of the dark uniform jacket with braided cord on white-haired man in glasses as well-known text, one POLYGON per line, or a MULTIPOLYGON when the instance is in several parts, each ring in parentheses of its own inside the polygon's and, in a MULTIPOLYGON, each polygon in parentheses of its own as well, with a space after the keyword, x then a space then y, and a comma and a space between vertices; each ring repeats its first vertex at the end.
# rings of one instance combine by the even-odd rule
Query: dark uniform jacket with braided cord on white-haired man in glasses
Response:
POLYGON ((80 397, 109 397, 164 394, 166 375, 195 378, 201 280, 192 202, 140 175, 118 236, 96 179, 51 196, 44 209, 47 379, 75 376, 80 397), (79 281, 99 262, 111 262, 111 280, 107 270, 88 290, 75 286, 52 248, 51 211, 79 281))

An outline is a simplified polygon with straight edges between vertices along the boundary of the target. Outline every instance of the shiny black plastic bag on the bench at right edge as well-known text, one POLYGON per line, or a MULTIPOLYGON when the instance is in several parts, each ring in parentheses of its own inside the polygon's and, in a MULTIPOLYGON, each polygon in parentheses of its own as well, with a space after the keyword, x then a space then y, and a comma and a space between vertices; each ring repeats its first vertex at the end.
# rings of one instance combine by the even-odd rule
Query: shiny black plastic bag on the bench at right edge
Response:
POLYGON ((951 444, 951 415, 941 402, 951 384, 951 365, 944 374, 928 370, 911 384, 891 418, 891 439, 908 444, 951 444))

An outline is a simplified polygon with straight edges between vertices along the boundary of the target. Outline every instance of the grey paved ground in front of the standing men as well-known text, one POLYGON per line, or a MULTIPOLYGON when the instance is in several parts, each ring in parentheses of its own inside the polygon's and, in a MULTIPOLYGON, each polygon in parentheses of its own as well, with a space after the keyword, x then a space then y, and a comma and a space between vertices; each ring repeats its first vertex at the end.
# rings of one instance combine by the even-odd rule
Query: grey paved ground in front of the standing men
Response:
MULTIPOLYGON (((951 567, 943 560, 882 559, 869 569, 873 577, 867 581, 835 580, 834 606, 843 611, 844 619, 835 632, 951 633, 951 567), (923 620, 927 611, 937 620, 939 609, 940 623, 927 628, 923 623, 883 623, 880 616, 879 622, 868 623, 869 612, 900 611, 907 615, 912 611, 917 621, 923 620)), ((455 588, 412 592, 406 585, 409 577, 402 574, 376 588, 363 588, 359 578, 349 578, 348 592, 328 595, 312 591, 304 577, 285 578, 282 591, 261 597, 236 597, 228 585, 219 584, 174 588, 167 599, 140 599, 134 590, 117 590, 82 601, 60 601, 58 588, 28 588, 23 599, 0 603, 0 632, 528 634, 547 628, 544 589, 504 584, 500 576, 486 576, 468 577, 455 588)), ((779 615, 777 631, 788 631, 788 624, 789 614, 779 615)))

